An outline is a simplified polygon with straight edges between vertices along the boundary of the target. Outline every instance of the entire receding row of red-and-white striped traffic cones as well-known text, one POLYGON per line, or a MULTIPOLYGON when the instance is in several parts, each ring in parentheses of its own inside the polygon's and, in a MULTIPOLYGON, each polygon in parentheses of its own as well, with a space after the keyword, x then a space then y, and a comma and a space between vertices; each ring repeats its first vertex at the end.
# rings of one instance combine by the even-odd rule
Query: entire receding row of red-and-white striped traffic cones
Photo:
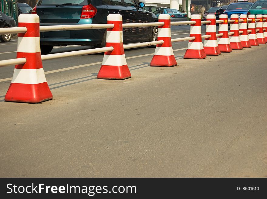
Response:
MULTIPOLYGON (((267 15, 264 15, 267 19, 267 15)), ((216 36, 215 15, 207 15, 207 20, 211 23, 206 26, 204 46, 201 37, 201 16, 191 15, 191 21, 195 22, 190 27, 190 37, 188 48, 184 55, 187 59, 204 59, 206 55, 220 55, 221 52, 232 52, 232 49, 248 48, 266 43, 267 30, 263 32, 263 27, 267 29, 267 21, 262 20, 262 15, 257 15, 255 25, 255 15, 249 15, 247 26, 247 16, 241 15, 243 22, 240 23, 240 30, 243 33, 239 36, 238 15, 232 15, 235 22, 230 24, 230 32, 234 34, 228 37, 227 15, 220 15, 219 33, 223 36, 216 36), (256 28, 259 32, 256 33, 256 28), (251 30, 249 34, 248 30, 251 30)), ((170 15, 159 15, 159 22, 164 22, 158 27, 158 40, 163 40, 163 44, 158 44, 150 66, 173 67, 177 65, 171 45, 171 19, 170 15)), ((106 31, 106 47, 113 46, 113 51, 105 52, 98 79, 123 80, 131 77, 130 70, 123 50, 122 37, 122 16, 110 14, 107 16, 107 23, 114 24, 113 28, 106 31)), ((5 101, 40 103, 53 98, 46 82, 46 77, 42 67, 40 53, 40 32, 39 16, 22 14, 18 19, 19 27, 26 27, 26 33, 18 34, 17 58, 26 58, 26 63, 16 65, 13 78, 5 95, 5 101), (29 44, 29 45, 28 45, 29 44)))

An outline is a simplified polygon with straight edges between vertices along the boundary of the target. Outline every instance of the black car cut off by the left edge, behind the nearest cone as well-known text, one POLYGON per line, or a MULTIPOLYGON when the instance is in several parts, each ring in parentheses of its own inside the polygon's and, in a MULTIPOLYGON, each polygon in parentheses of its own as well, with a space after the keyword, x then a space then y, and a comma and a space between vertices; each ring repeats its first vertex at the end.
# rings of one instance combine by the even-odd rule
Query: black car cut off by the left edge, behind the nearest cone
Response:
MULTIPOLYGON (((15 19, 12 17, 5 15, 3 12, 0 11, 0 28, 11 28, 17 27, 15 19)), ((12 34, 5 34, 0 35, 0 40, 2 42, 10 42, 12 38, 12 34)))

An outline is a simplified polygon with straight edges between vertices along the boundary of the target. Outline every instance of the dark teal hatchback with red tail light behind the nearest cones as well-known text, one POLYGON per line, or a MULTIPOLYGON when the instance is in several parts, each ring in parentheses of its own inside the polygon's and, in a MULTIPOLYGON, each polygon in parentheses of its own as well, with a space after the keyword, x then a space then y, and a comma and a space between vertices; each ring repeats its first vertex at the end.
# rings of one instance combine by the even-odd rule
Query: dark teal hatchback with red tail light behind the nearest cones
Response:
MULTIPOLYGON (((108 14, 120 14, 123 23, 158 22, 144 3, 134 0, 39 0, 32 14, 40 17, 40 26, 106 23, 108 14)), ((123 43, 157 40, 157 26, 123 29, 123 43)), ((106 29, 52 31, 40 33, 41 52, 53 46, 83 45, 104 47, 106 29)), ((152 46, 155 47, 155 46, 152 46)))

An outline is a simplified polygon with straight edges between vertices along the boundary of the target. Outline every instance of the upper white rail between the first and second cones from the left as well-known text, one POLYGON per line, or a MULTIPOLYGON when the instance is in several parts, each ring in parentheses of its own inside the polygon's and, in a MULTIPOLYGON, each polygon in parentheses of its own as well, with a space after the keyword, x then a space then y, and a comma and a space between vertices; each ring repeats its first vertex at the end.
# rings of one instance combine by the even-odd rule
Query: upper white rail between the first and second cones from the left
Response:
POLYGON ((85 30, 85 29, 105 29, 114 28, 114 24, 86 24, 86 25, 56 25, 40 26, 40 32, 60 31, 60 30, 85 30))

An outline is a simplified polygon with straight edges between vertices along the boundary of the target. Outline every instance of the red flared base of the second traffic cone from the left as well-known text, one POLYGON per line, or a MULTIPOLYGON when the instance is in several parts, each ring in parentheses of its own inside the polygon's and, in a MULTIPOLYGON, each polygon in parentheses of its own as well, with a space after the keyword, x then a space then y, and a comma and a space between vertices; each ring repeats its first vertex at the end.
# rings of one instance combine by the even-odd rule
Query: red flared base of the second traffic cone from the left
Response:
POLYGON ((123 66, 102 65, 97 74, 97 79, 125 80, 130 77, 131 73, 127 65, 123 66))

